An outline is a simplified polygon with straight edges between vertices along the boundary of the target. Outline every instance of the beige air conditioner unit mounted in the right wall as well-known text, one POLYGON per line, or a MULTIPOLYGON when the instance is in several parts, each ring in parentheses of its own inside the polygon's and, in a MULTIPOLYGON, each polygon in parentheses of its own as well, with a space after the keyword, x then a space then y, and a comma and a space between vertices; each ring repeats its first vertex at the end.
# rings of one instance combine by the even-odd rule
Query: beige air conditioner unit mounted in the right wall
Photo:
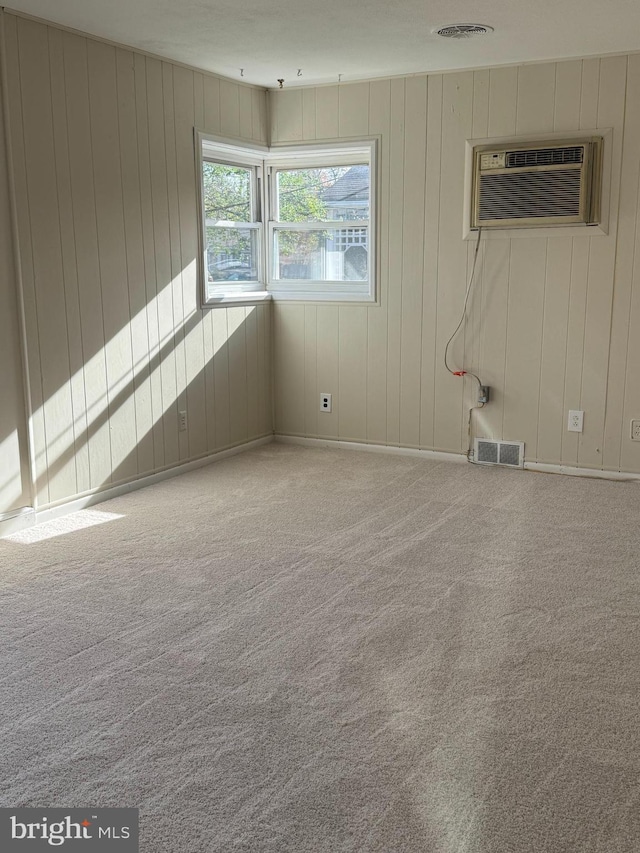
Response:
POLYGON ((473 149, 471 228, 597 225, 602 137, 473 149))

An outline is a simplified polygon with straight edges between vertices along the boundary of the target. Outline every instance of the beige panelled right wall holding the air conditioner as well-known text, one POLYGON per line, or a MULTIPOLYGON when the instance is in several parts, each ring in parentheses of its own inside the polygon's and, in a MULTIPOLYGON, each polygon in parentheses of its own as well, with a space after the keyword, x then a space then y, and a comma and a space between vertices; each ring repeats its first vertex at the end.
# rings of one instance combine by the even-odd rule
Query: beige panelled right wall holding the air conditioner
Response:
POLYGON ((285 89, 271 116, 276 143, 381 140, 382 305, 274 306, 277 431, 454 452, 473 390, 442 361, 473 253, 465 140, 613 128, 610 234, 482 245, 454 358, 464 344, 493 390, 476 434, 523 440, 530 461, 640 471, 640 56, 285 89))

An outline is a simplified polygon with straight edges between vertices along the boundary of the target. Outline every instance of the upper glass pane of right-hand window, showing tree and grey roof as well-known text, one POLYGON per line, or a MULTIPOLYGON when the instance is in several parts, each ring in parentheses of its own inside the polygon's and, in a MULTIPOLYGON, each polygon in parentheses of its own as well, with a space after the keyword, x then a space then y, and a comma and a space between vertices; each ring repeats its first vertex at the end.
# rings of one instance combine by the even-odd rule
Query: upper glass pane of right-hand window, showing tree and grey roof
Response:
POLYGON ((369 219, 369 166, 277 172, 280 222, 369 219))

